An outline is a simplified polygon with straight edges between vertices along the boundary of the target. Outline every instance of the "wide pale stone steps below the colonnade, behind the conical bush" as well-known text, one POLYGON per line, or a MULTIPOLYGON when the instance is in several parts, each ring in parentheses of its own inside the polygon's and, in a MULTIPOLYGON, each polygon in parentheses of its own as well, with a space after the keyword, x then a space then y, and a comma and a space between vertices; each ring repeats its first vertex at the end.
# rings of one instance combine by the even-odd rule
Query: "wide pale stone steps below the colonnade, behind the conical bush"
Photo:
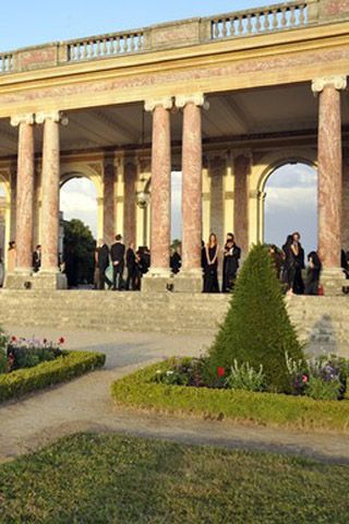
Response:
MULTIPOLYGON (((93 290, 0 291, 0 325, 213 335, 226 295, 93 290)), ((349 356, 349 297, 292 297, 287 306, 312 350, 349 356)))

